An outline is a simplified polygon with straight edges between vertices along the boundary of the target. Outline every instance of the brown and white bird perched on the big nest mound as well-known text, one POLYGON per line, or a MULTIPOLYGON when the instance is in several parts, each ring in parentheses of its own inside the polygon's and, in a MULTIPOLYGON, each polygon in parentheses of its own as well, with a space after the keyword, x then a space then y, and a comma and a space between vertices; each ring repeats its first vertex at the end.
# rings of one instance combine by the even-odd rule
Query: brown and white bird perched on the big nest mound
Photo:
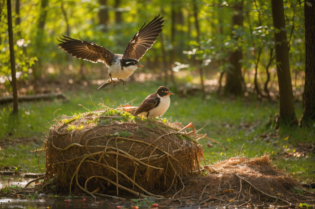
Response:
POLYGON ((160 118, 169 108, 171 102, 169 95, 171 94, 174 95, 169 91, 169 88, 160 86, 155 93, 150 94, 143 100, 133 115, 145 116, 148 120, 157 116, 160 118))

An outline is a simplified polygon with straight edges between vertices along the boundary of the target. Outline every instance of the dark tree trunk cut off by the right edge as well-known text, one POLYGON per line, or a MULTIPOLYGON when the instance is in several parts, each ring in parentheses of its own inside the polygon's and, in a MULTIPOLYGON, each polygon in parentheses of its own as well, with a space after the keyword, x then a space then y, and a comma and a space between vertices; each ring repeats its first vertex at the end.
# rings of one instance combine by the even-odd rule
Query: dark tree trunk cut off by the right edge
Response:
POLYGON ((305 86, 303 93, 303 114, 301 124, 315 121, 315 0, 305 3, 305 86))

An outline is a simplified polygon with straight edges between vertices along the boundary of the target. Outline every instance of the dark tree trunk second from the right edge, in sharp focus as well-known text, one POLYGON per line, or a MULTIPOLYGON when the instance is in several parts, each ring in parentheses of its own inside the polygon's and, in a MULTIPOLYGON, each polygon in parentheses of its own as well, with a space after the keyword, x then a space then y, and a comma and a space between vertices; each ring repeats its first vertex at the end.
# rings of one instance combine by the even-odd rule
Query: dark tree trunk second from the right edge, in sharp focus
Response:
POLYGON ((298 121, 294 110, 294 98, 289 66, 287 33, 285 31, 283 0, 271 0, 271 7, 272 20, 275 28, 276 64, 280 95, 278 125, 297 124, 298 121))

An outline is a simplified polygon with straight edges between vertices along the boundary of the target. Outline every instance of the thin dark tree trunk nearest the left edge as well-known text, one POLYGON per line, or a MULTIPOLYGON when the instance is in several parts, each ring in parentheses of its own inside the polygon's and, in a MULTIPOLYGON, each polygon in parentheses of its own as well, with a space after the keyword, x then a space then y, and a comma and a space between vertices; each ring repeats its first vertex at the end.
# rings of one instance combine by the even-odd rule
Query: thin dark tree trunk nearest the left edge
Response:
POLYGON ((17 114, 19 110, 18 90, 15 76, 15 59, 14 59, 14 41, 12 31, 12 14, 11 14, 11 0, 7 0, 8 6, 8 31, 9 31, 9 48, 10 48, 10 63, 11 63, 11 76, 13 88, 13 113, 17 114))

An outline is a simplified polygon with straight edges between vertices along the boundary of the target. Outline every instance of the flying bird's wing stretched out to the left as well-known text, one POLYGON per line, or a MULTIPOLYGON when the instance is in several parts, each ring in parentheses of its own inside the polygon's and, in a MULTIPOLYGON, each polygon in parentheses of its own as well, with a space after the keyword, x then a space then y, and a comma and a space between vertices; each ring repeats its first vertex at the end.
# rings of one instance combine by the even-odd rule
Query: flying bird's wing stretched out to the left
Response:
POLYGON ((102 62, 107 65, 107 67, 111 64, 115 54, 108 49, 93 42, 77 40, 64 35, 62 36, 62 41, 57 39, 61 42, 58 46, 73 57, 89 60, 94 63, 102 62))

